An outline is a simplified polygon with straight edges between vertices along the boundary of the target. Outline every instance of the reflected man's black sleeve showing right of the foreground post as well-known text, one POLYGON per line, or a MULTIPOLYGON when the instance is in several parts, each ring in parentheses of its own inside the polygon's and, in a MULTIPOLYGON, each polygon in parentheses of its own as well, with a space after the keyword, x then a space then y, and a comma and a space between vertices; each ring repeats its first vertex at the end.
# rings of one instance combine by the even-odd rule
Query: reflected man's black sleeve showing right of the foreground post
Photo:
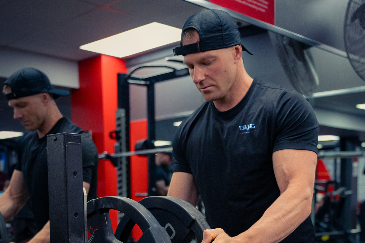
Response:
POLYGON ((81 134, 82 145, 82 180, 91 183, 94 168, 99 161, 96 146, 89 133, 81 134))

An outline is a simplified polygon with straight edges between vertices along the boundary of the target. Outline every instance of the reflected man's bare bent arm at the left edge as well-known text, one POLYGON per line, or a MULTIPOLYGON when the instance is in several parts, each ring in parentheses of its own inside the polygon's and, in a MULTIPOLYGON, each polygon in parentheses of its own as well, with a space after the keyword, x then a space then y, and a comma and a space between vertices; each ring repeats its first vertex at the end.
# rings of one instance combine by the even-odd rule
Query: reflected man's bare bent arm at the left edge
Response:
POLYGON ((9 187, 0 196, 0 212, 5 222, 14 217, 24 207, 29 198, 28 190, 24 184, 23 173, 14 170, 9 187))

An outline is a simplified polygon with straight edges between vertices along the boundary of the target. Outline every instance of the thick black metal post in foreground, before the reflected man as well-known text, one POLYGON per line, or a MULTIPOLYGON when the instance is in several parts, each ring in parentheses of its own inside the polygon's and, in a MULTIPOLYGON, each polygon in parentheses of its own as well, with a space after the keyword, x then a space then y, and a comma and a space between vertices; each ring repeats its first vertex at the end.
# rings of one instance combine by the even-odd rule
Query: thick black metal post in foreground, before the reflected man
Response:
POLYGON ((80 134, 47 135, 49 220, 52 243, 87 241, 80 134))

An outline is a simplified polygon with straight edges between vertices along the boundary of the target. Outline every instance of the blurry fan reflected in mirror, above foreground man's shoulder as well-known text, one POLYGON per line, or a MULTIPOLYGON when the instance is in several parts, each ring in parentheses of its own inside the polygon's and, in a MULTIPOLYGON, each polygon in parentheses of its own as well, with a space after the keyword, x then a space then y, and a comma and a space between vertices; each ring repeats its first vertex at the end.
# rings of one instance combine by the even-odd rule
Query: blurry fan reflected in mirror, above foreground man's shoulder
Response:
POLYGON ((310 46, 287 36, 268 31, 271 42, 290 83, 296 91, 312 95, 319 85, 310 46))

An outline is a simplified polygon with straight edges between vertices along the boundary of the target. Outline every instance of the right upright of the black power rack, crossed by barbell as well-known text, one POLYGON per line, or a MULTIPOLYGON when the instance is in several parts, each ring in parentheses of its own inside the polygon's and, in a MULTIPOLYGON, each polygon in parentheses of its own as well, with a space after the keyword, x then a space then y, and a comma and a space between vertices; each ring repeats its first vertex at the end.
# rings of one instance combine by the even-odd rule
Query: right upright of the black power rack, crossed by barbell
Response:
MULTIPOLYGON (((156 139, 155 128, 155 86, 154 82, 147 85, 147 126, 148 126, 148 148, 154 149, 156 139)), ((148 155, 148 196, 156 195, 156 165, 155 155, 148 155)))

